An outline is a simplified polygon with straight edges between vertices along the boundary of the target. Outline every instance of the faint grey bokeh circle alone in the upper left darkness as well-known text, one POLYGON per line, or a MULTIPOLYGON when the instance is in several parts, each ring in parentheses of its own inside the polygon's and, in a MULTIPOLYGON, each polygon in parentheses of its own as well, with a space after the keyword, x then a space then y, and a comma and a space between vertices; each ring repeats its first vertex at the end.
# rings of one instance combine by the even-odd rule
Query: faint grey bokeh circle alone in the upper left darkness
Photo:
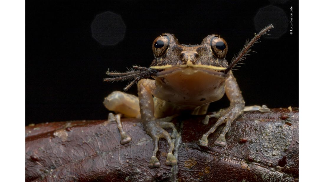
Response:
POLYGON ((120 15, 106 11, 92 21, 91 32, 101 45, 116 45, 124 38, 126 25, 120 15))

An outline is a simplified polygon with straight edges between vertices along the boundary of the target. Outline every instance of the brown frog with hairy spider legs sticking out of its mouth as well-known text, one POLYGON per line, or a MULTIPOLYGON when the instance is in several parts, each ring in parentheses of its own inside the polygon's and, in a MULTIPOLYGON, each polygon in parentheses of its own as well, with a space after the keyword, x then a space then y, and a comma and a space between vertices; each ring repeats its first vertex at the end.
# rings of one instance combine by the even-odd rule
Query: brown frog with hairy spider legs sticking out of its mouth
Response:
MULTIPOLYGON (((128 74, 130 77, 136 77, 134 81, 137 82, 138 97, 122 91, 113 91, 103 102, 108 110, 117 113, 110 113, 108 120, 117 122, 121 144, 132 140, 122 129, 121 115, 139 118, 154 145, 148 166, 155 168, 161 165, 156 153, 162 138, 168 142, 169 147, 165 164, 177 165, 177 159, 173 155, 175 145, 172 138, 179 137, 179 133, 171 121, 178 115, 190 113, 205 115, 203 124, 208 124, 210 118, 217 118, 209 131, 198 139, 197 145, 206 147, 208 136, 225 123, 214 144, 219 147, 226 146, 226 133, 231 124, 244 112, 245 107, 232 69, 245 59, 250 47, 271 28, 273 26, 269 25, 259 34, 255 34, 230 64, 226 60, 227 42, 219 35, 209 35, 199 45, 184 45, 180 44, 173 34, 164 33, 152 43, 154 59, 149 68, 134 67, 139 72, 148 71, 148 75, 141 76, 136 70, 130 70, 128 73, 108 72, 108 75, 117 76, 119 80, 124 80, 128 74), (230 101, 230 106, 207 114, 209 104, 220 100, 224 95, 230 101), (166 128, 171 128, 172 133, 169 134, 166 128)), ((115 80, 108 78, 105 81, 115 80)))

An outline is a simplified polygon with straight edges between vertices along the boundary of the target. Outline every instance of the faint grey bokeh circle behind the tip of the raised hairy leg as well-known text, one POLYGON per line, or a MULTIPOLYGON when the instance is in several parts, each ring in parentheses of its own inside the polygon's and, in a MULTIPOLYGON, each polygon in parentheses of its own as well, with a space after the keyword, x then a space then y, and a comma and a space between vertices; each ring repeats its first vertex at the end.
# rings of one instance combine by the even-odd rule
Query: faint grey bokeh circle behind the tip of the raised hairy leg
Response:
POLYGON ((288 23, 289 20, 284 10, 274 5, 261 7, 254 17, 254 26, 257 32, 261 28, 273 24, 274 28, 269 32, 271 35, 264 35, 267 38, 279 38, 282 36, 288 30, 288 23))

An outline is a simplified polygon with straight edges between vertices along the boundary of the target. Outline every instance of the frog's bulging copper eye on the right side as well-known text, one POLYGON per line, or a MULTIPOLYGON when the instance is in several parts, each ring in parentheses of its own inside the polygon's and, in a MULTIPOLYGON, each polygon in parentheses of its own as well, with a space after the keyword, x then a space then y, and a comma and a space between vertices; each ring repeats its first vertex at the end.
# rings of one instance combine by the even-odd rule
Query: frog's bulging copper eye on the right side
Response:
POLYGON ((212 37, 210 39, 210 48, 215 57, 224 58, 226 56, 227 43, 223 38, 218 36, 212 37))

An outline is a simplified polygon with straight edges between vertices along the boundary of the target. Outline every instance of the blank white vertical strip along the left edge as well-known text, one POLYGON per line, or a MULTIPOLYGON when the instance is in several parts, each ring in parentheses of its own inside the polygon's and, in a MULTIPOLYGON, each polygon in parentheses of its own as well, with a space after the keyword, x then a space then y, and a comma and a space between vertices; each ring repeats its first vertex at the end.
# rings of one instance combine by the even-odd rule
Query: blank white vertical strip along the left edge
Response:
POLYGON ((1 1, 1 181, 25 181, 25 27, 25 1, 1 1))

